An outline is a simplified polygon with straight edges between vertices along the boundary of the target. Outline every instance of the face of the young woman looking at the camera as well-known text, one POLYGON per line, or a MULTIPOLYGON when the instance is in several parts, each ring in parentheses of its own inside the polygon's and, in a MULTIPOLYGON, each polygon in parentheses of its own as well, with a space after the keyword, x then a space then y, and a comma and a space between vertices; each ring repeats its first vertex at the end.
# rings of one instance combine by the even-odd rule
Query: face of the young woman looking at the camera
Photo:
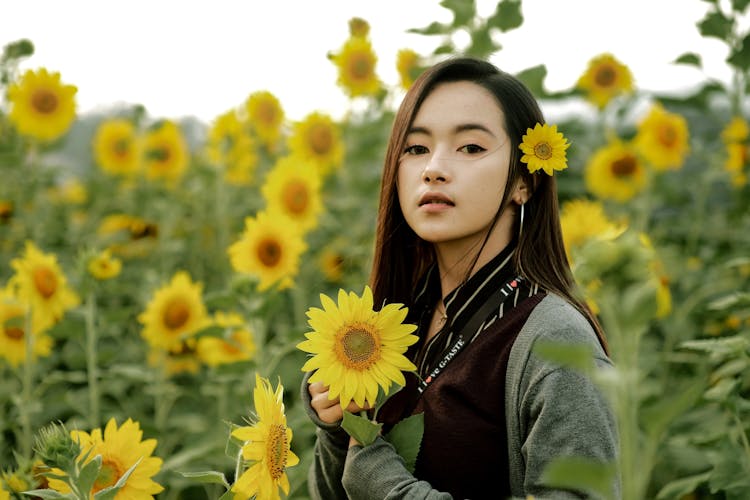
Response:
MULTIPOLYGON (((472 82, 440 84, 424 100, 398 168, 399 204, 420 238, 467 251, 484 239, 508 180, 504 123, 493 95, 472 82)), ((511 216, 495 231, 510 235, 511 216)))

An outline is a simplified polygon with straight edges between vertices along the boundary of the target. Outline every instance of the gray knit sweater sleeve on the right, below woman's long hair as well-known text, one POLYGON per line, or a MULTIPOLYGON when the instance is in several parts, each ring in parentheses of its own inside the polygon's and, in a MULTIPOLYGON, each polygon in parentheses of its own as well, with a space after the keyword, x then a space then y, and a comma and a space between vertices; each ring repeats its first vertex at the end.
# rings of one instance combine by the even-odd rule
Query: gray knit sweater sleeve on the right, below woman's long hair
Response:
MULTIPOLYGON (((515 472, 513 494, 598 498, 588 491, 555 489, 545 484, 543 474, 558 458, 616 465, 617 425, 609 402, 590 375, 536 355, 533 346, 540 339, 586 345, 594 353, 597 369, 610 369, 611 362, 588 322, 562 299, 553 297, 535 313, 517 338, 518 352, 523 354, 509 364, 514 372, 509 373, 510 406, 506 410, 512 477, 515 472)), ((620 496, 617 473, 610 494, 620 496)))

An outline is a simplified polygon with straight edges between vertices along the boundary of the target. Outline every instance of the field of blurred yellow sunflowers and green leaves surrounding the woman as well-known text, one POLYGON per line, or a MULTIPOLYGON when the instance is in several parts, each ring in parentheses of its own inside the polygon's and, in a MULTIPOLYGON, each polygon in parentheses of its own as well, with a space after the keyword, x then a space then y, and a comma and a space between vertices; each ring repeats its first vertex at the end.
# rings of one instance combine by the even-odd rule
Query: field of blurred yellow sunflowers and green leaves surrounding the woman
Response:
MULTIPOLYGON (((750 498, 750 0, 696 29, 733 78, 680 93, 592 53, 561 92, 519 76, 570 141, 558 172, 576 278, 608 336, 623 498, 750 498), (580 112, 554 113, 565 104, 580 112)), ((143 106, 79 115, 65 68, 0 56, 0 500, 307 498, 310 308, 362 293, 385 144, 416 75, 490 57, 520 0, 415 27, 435 49, 376 72, 367 20, 321 64, 343 118, 273 89, 210 123, 143 106), (453 35, 470 34, 465 46, 453 35), (33 495, 21 492, 34 490, 33 495), (236 496, 235 496, 236 494, 236 496), (92 496, 90 496, 92 495, 92 496)), ((702 68, 686 51, 674 64, 702 68)), ((575 362, 560 355, 561 362, 575 362)), ((597 490, 596 470, 565 479, 597 490)))

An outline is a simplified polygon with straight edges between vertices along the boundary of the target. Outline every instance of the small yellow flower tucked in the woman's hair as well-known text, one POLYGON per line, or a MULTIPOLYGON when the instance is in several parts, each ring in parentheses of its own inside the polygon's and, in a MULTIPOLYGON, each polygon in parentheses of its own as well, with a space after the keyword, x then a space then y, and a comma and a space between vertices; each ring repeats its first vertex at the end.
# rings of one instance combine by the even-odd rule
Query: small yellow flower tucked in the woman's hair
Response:
POLYGON ((523 151, 521 161, 526 163, 532 174, 537 170, 544 170, 547 175, 555 170, 568 168, 565 150, 570 143, 557 131, 557 125, 542 125, 537 123, 534 129, 527 128, 523 142, 518 147, 523 151))

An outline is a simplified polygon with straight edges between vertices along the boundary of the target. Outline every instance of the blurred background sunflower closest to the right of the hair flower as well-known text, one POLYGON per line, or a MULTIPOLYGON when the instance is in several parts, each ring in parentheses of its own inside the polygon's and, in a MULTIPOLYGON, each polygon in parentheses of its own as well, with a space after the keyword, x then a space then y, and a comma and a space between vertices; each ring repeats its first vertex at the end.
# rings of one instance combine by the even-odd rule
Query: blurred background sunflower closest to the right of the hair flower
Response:
POLYGON ((633 148, 614 141, 596 150, 584 170, 586 188, 603 199, 627 201, 646 186, 646 172, 633 148))

